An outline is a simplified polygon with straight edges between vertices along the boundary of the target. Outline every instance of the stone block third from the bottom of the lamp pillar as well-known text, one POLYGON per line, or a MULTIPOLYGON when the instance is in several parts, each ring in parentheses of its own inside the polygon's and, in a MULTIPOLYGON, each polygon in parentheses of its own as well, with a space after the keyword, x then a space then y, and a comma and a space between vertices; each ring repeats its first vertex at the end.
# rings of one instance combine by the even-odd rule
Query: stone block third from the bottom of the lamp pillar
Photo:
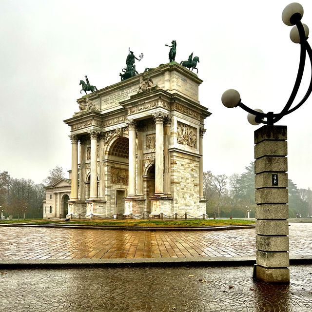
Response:
POLYGON ((289 251, 288 236, 255 236, 256 249, 263 252, 289 251))

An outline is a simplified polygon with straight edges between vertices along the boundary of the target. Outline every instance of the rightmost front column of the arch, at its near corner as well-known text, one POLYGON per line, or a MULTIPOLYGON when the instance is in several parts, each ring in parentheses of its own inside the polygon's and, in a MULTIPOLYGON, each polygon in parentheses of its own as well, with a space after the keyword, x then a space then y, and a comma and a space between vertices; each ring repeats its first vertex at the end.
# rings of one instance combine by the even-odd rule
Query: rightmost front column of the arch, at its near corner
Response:
POLYGON ((165 115, 156 113, 156 148, 155 148, 155 195, 164 194, 164 157, 163 157, 163 122, 165 115))

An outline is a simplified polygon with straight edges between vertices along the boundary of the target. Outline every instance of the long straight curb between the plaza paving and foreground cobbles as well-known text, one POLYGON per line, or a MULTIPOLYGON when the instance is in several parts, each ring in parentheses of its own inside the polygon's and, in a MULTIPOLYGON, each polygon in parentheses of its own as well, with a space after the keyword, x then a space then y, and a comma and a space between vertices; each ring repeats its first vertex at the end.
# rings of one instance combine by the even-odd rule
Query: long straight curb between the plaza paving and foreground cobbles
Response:
MULTIPOLYGON (((129 259, 72 259, 72 260, 0 260, 0 269, 49 268, 116 268, 148 266, 247 266, 255 257, 188 257, 188 258, 129 258, 129 259)), ((292 256, 290 265, 312 264, 312 256, 292 256)))

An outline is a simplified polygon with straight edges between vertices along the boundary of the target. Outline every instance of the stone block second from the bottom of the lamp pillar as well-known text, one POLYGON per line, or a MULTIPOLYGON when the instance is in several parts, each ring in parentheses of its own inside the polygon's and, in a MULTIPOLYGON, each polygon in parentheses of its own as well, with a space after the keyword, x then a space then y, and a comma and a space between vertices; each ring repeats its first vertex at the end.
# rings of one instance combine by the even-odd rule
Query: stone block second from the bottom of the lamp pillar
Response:
POLYGON ((267 253, 257 250, 256 263, 265 268, 287 268, 289 267, 289 253, 267 253))

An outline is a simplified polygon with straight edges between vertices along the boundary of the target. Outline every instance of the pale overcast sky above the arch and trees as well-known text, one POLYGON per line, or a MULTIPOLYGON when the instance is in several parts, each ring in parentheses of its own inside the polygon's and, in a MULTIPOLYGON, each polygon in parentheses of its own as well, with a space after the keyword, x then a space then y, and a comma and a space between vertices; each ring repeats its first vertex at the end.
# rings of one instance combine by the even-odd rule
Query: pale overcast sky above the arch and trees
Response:
MULTIPOLYGON (((0 171, 39 183, 57 165, 69 170, 70 129, 62 120, 78 111, 79 80, 88 75, 98 89, 118 82, 128 47, 144 54, 139 73, 166 63, 165 44, 175 39, 177 62, 191 52, 199 57, 199 100, 213 113, 205 121, 204 171, 242 173, 254 160, 259 126, 242 109, 225 108, 221 95, 234 88, 252 108, 284 107, 300 53, 281 20, 289 3, 2 0, 0 171)), ((312 1, 300 3, 312 29, 312 1)), ((296 102, 310 75, 307 63, 296 102)), ((288 126, 288 174, 299 188, 312 188, 311 102, 277 123, 288 126)))

